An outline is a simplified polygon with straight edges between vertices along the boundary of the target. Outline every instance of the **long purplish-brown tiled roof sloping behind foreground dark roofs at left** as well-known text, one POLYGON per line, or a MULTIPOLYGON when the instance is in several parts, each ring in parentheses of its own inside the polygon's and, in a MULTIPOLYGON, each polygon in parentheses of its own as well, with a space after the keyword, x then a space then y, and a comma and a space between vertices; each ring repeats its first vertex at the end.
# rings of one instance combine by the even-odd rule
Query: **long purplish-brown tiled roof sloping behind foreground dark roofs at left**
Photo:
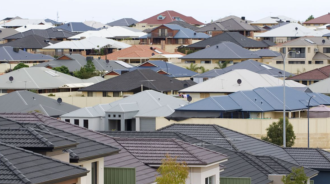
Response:
MULTIPOLYGON (((61 128, 72 133, 77 133, 81 136, 85 136, 96 141, 110 144, 119 149, 118 154, 104 157, 104 167, 134 167, 136 169, 136 184, 149 184, 153 183, 158 173, 155 168, 152 168, 146 164, 143 164, 130 154, 127 150, 123 149, 112 137, 105 134, 86 129, 84 127, 72 125, 68 122, 58 120, 49 116, 45 116, 39 113, 0 113, 1 116, 8 117, 17 121, 29 121, 33 123, 41 122, 43 124, 49 124, 57 128, 61 128)), ((5 123, 1 123, 5 124, 5 123)), ((8 126, 13 122, 7 121, 8 126)))

